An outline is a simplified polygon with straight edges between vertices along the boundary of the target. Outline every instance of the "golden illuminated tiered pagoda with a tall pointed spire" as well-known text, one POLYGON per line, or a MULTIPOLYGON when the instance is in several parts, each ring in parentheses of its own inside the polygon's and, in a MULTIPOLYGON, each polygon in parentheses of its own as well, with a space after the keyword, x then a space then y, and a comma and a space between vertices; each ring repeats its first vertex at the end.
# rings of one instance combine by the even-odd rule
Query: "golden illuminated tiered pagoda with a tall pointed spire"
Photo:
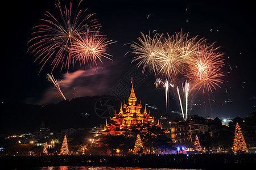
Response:
POLYGON ((110 117, 110 120, 114 121, 114 124, 108 125, 106 122, 105 129, 100 130, 104 135, 119 135, 125 132, 126 128, 129 126, 137 124, 151 124, 152 126, 161 125, 154 124, 154 117, 150 116, 150 113, 147 113, 146 106, 144 112, 141 113, 141 101, 137 103, 137 97, 135 96, 133 89, 133 82, 131 82, 131 94, 128 99, 127 104, 121 103, 120 111, 118 114, 114 114, 114 117, 110 117))

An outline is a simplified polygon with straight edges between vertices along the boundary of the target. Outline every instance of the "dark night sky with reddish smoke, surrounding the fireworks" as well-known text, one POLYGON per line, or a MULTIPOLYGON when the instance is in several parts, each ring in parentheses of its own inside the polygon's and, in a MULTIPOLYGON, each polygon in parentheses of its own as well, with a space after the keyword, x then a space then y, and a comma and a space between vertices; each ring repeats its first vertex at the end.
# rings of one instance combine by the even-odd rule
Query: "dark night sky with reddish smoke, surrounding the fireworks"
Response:
MULTIPOLYGON (((69 6, 70 1, 60 1, 69 6)), ((79 1, 72 1, 73 10, 79 1)), ((32 27, 40 24, 45 11, 59 15, 55 1, 10 1, 2 10, 1 45, 1 102, 24 101, 32 104, 49 104, 61 101, 56 97, 52 84, 46 80, 49 65, 40 74, 40 65, 27 54, 27 42, 32 27)), ((65 69, 53 71, 61 79, 63 92, 68 99, 76 96, 109 95, 109 89, 130 69, 133 56, 126 43, 136 41, 140 32, 147 34, 156 29, 170 35, 183 29, 191 36, 199 36, 208 42, 216 42, 225 54, 224 84, 209 96, 192 96, 192 113, 218 117, 246 117, 255 112, 255 9, 246 1, 83 1, 82 8, 96 13, 95 19, 102 25, 101 31, 114 41, 108 53, 113 61, 104 59, 98 69, 75 67, 70 74, 65 69), (150 15, 151 14, 151 15, 150 15), (147 16, 150 15, 147 19, 147 16), (230 70, 230 67, 232 70, 230 70), (76 96, 73 94, 76 87, 76 96), (228 93, 227 93, 228 92, 228 93), (210 99, 210 100, 209 100, 210 99), (232 103, 225 101, 232 101, 232 103), (206 104, 204 104, 206 103, 206 104), (208 103, 208 104, 207 104, 208 103), (209 105, 211 103, 211 105, 209 105), (211 109, 210 109, 211 107, 211 109)), ((138 89, 138 98, 164 108, 164 92, 156 90, 154 78, 148 79, 138 89)), ((172 97, 171 97, 172 98, 172 97)), ((170 108, 179 108, 170 101, 170 108)), ((172 110, 172 109, 171 109, 172 110)))

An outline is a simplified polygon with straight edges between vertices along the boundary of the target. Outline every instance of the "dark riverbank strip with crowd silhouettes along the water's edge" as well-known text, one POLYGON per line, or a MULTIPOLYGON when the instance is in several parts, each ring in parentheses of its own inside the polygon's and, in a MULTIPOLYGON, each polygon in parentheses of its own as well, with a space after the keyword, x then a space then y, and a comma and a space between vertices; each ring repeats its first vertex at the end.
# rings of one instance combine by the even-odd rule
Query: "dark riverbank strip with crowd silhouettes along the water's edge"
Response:
POLYGON ((255 166, 256 154, 0 156, 0 163, 1 167, 7 167, 8 169, 60 165, 179 169, 247 169, 246 167, 255 166))

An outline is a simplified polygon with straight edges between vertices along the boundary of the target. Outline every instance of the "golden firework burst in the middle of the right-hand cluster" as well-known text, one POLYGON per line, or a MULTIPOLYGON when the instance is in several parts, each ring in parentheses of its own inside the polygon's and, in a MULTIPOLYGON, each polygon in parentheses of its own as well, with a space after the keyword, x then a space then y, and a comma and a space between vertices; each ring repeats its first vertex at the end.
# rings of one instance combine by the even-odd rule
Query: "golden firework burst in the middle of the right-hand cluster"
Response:
POLYGON ((168 35, 158 50, 159 73, 175 83, 177 76, 185 73, 186 66, 192 61, 200 42, 196 38, 189 38, 188 33, 179 32, 171 37, 168 35))

